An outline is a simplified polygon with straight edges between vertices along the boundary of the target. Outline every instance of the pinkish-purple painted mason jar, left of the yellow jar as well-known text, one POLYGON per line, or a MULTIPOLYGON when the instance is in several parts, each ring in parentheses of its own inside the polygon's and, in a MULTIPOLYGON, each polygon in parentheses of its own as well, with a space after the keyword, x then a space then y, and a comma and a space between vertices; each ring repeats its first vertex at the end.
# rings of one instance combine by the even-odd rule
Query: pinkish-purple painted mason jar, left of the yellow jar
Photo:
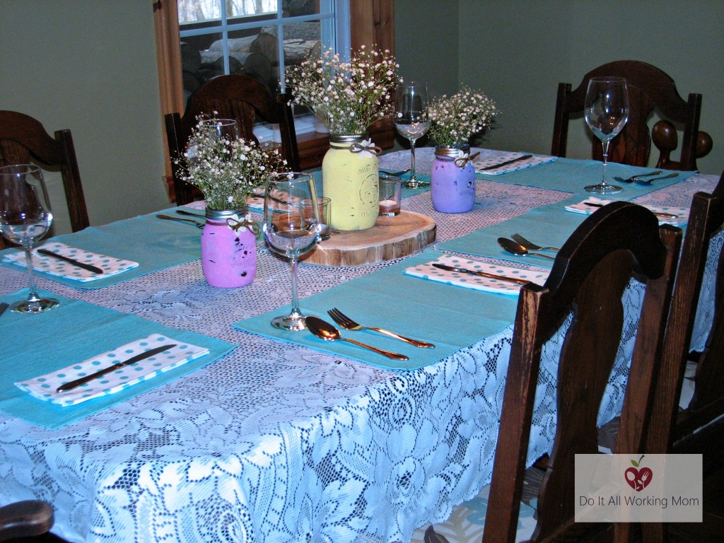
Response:
POLYGON ((256 274, 256 236, 244 211, 206 209, 201 230, 201 267, 213 287, 243 287, 256 274), (233 216, 239 217, 236 221, 233 216))

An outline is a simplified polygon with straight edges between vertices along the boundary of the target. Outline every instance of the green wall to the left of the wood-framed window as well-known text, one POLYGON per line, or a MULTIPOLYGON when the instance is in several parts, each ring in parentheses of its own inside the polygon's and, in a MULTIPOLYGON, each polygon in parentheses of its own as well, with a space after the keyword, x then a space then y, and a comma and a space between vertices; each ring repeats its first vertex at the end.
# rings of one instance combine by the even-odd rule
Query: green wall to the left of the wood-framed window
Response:
POLYGON ((0 0, 0 109, 70 128, 91 224, 168 206, 155 39, 151 1, 0 0))

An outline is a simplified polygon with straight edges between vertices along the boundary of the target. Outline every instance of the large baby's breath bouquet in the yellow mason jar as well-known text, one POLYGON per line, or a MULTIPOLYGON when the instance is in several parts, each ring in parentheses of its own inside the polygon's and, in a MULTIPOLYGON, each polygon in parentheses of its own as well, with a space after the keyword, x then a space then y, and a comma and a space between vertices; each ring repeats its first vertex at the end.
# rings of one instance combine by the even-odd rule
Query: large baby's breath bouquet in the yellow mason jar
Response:
POLYGON ((374 122, 392 114, 390 93, 397 84, 398 64, 385 50, 365 46, 342 62, 327 50, 287 71, 295 104, 306 106, 327 122, 332 135, 363 134, 374 122))

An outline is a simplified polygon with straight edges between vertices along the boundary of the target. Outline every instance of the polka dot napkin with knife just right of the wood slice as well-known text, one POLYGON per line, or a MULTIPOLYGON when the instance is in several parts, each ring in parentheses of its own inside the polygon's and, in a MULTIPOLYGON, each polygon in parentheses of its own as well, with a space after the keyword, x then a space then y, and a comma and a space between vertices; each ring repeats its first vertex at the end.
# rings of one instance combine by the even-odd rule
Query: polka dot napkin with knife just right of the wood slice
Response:
POLYGON ((480 277, 461 273, 458 271, 447 271, 439 269, 432 264, 445 264, 446 266, 454 266, 474 271, 484 271, 488 274, 500 275, 505 277, 514 277, 515 279, 526 279, 538 285, 543 285, 550 270, 544 269, 523 269, 515 266, 500 266, 500 264, 492 264, 490 262, 482 262, 479 260, 468 260, 459 256, 442 255, 434 261, 411 266, 405 269, 405 274, 421 279, 429 279, 447 283, 447 285, 455 285, 457 287, 471 288, 474 290, 483 290, 486 292, 497 292, 498 294, 508 294, 517 296, 521 290, 521 285, 517 283, 505 281, 503 279, 492 279, 489 277, 480 277))

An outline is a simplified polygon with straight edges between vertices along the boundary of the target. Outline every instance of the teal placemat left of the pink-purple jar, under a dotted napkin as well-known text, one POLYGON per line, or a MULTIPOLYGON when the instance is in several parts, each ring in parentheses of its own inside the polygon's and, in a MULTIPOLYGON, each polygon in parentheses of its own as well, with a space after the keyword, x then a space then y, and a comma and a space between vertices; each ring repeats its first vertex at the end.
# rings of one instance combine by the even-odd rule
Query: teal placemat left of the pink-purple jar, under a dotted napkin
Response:
MULTIPOLYGON (((201 258, 201 229, 193 224, 157 219, 157 214, 174 216, 174 210, 164 209, 150 215, 136 216, 132 219, 112 222, 102 227, 89 227, 81 232, 53 237, 53 240, 72 247, 82 248, 117 258, 126 258, 138 262, 138 267, 104 279, 91 282, 78 282, 51 274, 36 271, 38 277, 44 277, 75 288, 102 288, 129 281, 155 271, 179 266, 201 258)), ((178 215, 182 219, 191 219, 178 215)), ((203 219, 195 219, 203 222, 203 219)), ((46 240, 41 240, 40 244, 46 240)), ((0 252, 0 257, 7 251, 0 252)), ((10 264, 0 258, 0 264, 12 269, 24 267, 10 264)), ((201 266, 201 261, 199 262, 201 266)))

